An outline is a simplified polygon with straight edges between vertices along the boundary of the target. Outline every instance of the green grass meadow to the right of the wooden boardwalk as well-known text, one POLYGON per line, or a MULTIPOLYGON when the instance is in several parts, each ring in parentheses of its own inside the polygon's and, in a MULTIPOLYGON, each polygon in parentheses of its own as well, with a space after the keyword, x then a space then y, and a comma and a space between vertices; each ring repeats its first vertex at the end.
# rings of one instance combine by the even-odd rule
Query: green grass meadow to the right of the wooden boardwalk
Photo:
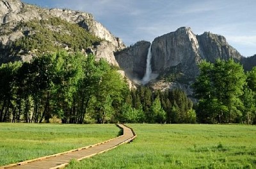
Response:
POLYGON ((67 168, 256 168, 256 126, 130 124, 138 137, 67 168))

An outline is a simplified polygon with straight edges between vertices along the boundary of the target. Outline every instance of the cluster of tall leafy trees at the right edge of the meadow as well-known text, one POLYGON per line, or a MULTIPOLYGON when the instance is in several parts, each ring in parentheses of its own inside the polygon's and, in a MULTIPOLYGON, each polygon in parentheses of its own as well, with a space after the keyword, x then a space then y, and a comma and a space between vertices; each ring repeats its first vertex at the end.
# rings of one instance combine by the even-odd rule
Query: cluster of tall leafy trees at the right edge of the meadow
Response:
POLYGON ((256 124, 256 67, 246 73, 230 59, 203 61, 193 87, 198 122, 256 124))

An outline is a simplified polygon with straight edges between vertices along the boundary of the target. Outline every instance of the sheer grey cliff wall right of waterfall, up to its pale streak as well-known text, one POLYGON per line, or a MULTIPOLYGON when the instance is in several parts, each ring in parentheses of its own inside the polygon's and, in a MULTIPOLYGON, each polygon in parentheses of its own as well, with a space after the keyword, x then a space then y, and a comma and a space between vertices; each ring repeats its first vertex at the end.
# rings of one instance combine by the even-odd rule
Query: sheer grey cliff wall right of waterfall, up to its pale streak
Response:
POLYGON ((189 77, 198 73, 200 50, 195 34, 189 27, 157 37, 152 42, 152 71, 161 73, 181 64, 182 73, 189 77))

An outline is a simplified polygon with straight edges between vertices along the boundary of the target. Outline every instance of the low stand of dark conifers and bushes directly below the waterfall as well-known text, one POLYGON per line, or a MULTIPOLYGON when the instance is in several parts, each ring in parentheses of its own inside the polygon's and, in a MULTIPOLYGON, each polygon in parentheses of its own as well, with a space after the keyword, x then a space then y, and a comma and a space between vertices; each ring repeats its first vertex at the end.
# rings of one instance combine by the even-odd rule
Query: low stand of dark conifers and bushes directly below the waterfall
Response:
POLYGON ((148 87, 132 90, 125 99, 121 122, 195 123, 193 103, 180 89, 150 91, 148 87))

